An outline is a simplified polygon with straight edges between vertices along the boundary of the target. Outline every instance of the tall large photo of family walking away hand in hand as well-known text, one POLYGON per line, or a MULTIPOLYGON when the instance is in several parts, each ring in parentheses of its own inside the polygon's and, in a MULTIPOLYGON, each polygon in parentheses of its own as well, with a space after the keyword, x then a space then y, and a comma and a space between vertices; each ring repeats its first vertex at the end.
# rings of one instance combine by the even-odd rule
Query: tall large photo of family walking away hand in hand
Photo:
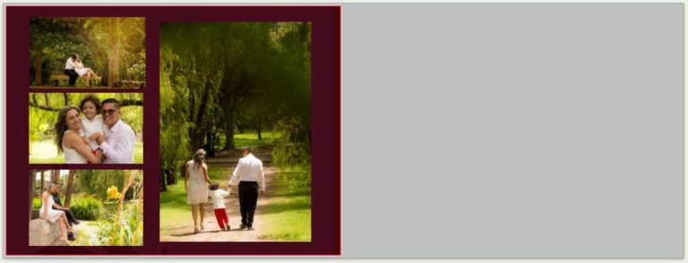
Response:
POLYGON ((311 242, 311 23, 161 23, 159 74, 160 242, 311 242))

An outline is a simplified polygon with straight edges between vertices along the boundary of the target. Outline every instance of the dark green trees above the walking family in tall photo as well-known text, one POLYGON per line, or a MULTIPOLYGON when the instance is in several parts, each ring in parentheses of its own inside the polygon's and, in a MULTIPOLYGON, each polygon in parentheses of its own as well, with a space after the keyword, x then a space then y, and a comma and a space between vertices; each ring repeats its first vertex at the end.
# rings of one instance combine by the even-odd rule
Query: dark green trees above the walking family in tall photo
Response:
POLYGON ((309 22, 162 23, 159 73, 161 189, 197 148, 234 149, 239 122, 285 130, 275 161, 310 165, 309 22), (284 150, 302 144, 298 157, 284 150))

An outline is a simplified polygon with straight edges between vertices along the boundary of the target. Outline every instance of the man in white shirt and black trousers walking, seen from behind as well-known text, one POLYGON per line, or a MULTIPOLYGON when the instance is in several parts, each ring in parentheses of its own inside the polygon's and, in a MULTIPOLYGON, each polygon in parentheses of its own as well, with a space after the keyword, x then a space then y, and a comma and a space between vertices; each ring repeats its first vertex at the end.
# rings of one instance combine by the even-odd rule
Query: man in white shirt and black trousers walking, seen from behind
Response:
POLYGON ((262 161, 254 157, 253 149, 245 147, 244 157, 236 164, 229 185, 239 184, 239 207, 241 210, 241 229, 254 230, 254 212, 258 203, 258 191, 265 192, 265 174, 262 161))

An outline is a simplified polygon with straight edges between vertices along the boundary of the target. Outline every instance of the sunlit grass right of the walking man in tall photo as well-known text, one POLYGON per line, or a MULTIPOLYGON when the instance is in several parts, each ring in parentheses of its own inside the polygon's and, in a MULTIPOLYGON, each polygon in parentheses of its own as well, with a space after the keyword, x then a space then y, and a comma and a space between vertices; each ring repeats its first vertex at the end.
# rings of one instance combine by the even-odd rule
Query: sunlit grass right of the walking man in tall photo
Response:
POLYGON ((263 211, 268 228, 265 239, 290 242, 311 241, 311 188, 290 187, 286 178, 294 173, 282 173, 272 182, 272 197, 263 211))

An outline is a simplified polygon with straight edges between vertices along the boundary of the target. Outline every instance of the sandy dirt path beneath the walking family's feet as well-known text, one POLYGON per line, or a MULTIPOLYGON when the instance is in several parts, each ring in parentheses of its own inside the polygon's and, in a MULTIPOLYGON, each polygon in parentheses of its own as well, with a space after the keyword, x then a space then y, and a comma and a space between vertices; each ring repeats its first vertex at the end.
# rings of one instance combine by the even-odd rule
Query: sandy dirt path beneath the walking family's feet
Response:
MULTIPOLYGON (((211 164, 209 164, 211 165, 211 164)), ((233 168, 232 168, 233 169, 233 168)), ((230 169, 229 172, 232 172, 230 169)), ((265 167, 266 191, 271 191, 272 180, 277 174, 276 167, 265 167)), ((228 173, 231 174, 231 173, 228 173)), ((229 178, 219 181, 220 185, 227 185, 229 178)), ((189 207, 189 222, 176 228, 160 229, 160 242, 270 242, 261 239, 262 230, 266 229, 262 220, 262 210, 271 202, 271 197, 266 194, 258 195, 258 205, 254 215, 254 231, 239 230, 241 215, 239 214, 238 186, 232 186, 231 194, 225 198, 225 207, 229 217, 229 232, 220 231, 215 214, 212 211, 211 202, 205 204, 205 217, 201 233, 193 233, 193 221, 191 220, 191 207, 189 207)))

